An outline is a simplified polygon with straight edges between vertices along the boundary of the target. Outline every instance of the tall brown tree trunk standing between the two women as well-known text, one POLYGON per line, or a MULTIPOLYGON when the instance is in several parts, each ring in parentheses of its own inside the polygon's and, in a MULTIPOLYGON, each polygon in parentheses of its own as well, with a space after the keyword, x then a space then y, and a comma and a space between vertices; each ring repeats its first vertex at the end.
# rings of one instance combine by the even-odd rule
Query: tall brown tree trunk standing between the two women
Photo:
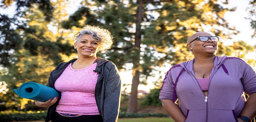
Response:
POLYGON ((135 32, 135 49, 137 55, 134 55, 133 57, 133 71, 132 71, 132 89, 129 97, 129 103, 128 103, 128 109, 127 113, 135 113, 137 112, 137 106, 138 106, 138 98, 137 98, 137 92, 138 92, 138 86, 139 86, 139 68, 140 68, 140 52, 141 52, 141 22, 142 22, 142 5, 143 1, 138 0, 139 7, 137 9, 136 14, 136 32, 135 32))

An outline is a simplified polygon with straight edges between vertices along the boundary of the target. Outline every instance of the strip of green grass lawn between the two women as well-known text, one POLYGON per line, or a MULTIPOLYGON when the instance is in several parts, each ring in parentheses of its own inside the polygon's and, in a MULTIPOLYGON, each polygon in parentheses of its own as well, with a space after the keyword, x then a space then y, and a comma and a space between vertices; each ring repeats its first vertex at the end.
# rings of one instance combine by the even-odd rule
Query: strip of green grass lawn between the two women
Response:
MULTIPOLYGON (((119 118, 118 122, 174 122, 172 118, 147 117, 147 118, 119 118)), ((12 122, 44 122, 44 121, 12 121, 12 122)))

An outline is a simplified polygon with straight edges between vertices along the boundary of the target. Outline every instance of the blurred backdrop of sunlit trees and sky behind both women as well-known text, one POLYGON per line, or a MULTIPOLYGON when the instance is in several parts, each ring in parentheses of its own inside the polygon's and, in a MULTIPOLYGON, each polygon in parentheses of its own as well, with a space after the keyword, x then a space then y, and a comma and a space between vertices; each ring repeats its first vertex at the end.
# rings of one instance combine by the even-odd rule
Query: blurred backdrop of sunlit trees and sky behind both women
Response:
POLYGON ((158 99, 163 78, 194 58, 186 41, 199 31, 220 37, 218 56, 242 58, 256 71, 255 0, 0 1, 1 111, 47 110, 13 89, 46 85, 57 64, 77 57, 74 35, 87 24, 114 36, 112 48, 97 56, 120 71, 121 112, 165 113, 158 99))

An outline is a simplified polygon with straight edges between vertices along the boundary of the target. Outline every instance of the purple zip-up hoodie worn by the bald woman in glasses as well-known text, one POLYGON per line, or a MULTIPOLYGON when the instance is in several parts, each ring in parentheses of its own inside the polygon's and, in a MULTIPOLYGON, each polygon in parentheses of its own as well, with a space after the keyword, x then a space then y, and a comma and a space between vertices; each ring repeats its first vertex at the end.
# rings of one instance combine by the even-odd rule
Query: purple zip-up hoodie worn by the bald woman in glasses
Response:
POLYGON ((247 95, 256 92, 253 69, 240 58, 216 56, 205 96, 195 78, 193 62, 194 59, 170 68, 159 99, 173 103, 178 99, 185 122, 238 122, 246 102, 243 92, 247 95))

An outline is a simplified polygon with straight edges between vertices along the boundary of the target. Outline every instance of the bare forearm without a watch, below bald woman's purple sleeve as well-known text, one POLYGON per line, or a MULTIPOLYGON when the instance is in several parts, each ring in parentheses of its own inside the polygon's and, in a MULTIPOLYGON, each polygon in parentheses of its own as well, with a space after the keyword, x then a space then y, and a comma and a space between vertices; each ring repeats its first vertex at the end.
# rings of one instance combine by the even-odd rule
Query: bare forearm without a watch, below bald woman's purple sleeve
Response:
POLYGON ((184 122, 186 120, 186 117, 182 113, 178 104, 173 104, 173 102, 169 99, 163 99, 162 105, 164 110, 172 117, 175 122, 184 122))

